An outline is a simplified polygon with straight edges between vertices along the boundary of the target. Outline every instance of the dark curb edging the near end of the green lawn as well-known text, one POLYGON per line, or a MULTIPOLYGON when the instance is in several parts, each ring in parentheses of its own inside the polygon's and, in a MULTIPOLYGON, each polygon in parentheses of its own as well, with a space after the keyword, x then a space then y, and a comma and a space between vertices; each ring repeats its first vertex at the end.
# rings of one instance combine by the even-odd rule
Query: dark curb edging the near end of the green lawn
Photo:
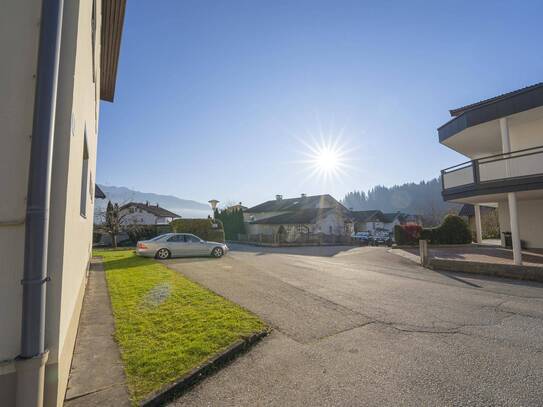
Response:
POLYGON ((198 384, 206 377, 211 376, 221 367, 226 366, 233 359, 247 352, 253 345, 269 334, 269 330, 257 332, 247 338, 239 339, 229 346, 225 351, 214 356, 212 359, 198 366, 174 383, 162 388, 152 396, 140 402, 141 407, 162 406, 168 401, 180 397, 191 387, 198 384))

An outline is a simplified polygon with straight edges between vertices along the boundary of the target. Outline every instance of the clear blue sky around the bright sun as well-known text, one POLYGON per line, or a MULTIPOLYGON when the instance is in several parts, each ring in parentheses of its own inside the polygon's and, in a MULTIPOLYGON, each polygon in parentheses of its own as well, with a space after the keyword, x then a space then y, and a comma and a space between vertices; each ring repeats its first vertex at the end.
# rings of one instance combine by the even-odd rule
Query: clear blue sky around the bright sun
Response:
POLYGON ((438 142, 449 109, 543 81, 542 15, 541 1, 128 1, 97 181, 252 206, 434 178, 465 161, 438 142), (315 171, 322 145, 337 171, 315 171))

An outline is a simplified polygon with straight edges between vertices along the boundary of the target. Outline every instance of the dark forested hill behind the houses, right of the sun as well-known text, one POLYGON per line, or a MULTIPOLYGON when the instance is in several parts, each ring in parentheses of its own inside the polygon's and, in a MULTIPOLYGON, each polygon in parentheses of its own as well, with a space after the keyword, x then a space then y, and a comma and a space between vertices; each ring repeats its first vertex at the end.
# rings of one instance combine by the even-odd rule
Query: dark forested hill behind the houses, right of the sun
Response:
POLYGON ((392 187, 377 185, 367 192, 349 192, 342 203, 355 211, 379 209, 422 215, 427 226, 439 224, 445 214, 457 213, 462 206, 443 201, 440 178, 392 187))

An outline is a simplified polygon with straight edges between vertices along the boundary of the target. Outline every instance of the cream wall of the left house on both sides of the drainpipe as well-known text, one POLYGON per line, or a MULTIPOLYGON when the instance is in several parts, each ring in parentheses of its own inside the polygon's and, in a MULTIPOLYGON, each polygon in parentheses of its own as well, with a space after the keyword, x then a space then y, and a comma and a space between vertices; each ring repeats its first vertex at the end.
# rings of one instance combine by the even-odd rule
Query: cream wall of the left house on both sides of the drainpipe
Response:
MULTIPOLYGON (((100 32, 100 4, 96 32, 100 32)), ((0 223, 23 219, 39 42, 41 1, 8 0, 0 13, 0 223)), ((92 243, 99 70, 92 79, 92 0, 64 2, 50 204, 46 300, 45 405, 61 405, 68 379, 92 243), (73 114, 72 114, 73 113, 73 114), (72 126, 73 124, 73 126, 72 126), (80 214, 83 140, 87 129, 87 216, 80 214), (92 174, 92 179, 91 179, 92 174)), ((99 65, 99 37, 95 63, 99 65)), ((4 373, 19 352, 24 224, 0 226, 0 400, 11 405, 4 373)))

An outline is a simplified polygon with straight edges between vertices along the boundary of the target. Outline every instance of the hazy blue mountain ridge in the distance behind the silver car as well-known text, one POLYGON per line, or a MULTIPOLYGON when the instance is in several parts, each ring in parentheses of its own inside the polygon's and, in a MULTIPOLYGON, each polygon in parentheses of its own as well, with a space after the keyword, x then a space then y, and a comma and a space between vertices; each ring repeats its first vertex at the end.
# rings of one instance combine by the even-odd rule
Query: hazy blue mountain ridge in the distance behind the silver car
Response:
POLYGON ((150 204, 159 204, 183 218, 206 218, 210 215, 211 208, 209 204, 181 199, 173 195, 160 195, 152 192, 134 191, 126 187, 115 187, 98 184, 100 189, 106 194, 106 199, 97 199, 95 202, 95 216, 105 210, 107 202, 116 202, 119 205, 127 202, 149 202, 150 204))

